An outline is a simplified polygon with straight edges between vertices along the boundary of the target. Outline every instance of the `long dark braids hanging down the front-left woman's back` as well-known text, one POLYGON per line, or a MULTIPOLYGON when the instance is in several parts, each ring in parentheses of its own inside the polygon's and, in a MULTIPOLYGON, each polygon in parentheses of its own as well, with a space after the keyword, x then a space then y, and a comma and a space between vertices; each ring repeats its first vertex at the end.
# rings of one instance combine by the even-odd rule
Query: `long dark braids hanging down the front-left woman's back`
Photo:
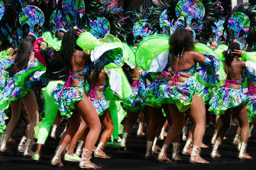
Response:
POLYGON ((65 32, 62 42, 61 42, 61 60, 63 61, 65 67, 65 79, 67 80, 70 67, 71 67, 71 58, 76 50, 76 40, 77 36, 77 29, 70 29, 65 32))

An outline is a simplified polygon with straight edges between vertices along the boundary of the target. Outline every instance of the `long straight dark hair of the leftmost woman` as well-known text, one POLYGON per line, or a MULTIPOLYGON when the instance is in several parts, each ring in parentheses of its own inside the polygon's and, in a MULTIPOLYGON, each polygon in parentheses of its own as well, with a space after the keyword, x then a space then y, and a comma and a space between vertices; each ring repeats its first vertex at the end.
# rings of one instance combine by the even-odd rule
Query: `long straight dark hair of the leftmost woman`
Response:
POLYGON ((19 72, 22 69, 26 69, 28 64, 28 58, 31 53, 31 48, 35 41, 36 38, 32 35, 28 35, 20 41, 17 55, 15 57, 15 73, 19 72))

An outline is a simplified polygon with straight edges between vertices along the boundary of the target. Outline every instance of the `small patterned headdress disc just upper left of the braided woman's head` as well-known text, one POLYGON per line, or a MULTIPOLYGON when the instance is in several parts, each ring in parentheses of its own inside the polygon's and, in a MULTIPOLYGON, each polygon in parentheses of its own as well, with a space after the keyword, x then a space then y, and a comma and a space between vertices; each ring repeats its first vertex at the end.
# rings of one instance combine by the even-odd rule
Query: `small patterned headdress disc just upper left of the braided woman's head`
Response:
POLYGON ((50 24, 54 25, 56 29, 65 29, 67 22, 61 15, 61 11, 53 11, 50 17, 50 24))

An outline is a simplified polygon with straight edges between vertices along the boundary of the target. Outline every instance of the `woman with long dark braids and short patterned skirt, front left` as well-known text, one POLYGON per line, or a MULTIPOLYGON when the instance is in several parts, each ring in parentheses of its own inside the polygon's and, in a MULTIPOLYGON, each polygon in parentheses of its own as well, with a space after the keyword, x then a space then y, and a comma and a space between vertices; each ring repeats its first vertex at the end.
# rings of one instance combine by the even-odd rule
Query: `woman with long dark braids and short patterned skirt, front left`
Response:
MULTIPOLYGON (((76 45, 77 30, 70 29, 65 32, 61 43, 61 60, 65 66, 65 85, 58 85, 53 90, 54 99, 59 104, 61 115, 68 118, 69 127, 60 139, 60 143, 52 158, 52 165, 63 166, 61 164, 61 154, 67 147, 72 137, 76 134, 79 125, 77 120, 83 118, 90 131, 84 143, 83 154, 79 167, 81 168, 100 168, 90 162, 93 146, 95 145, 100 133, 100 120, 92 102, 84 92, 84 79, 88 76, 90 66, 88 60, 90 53, 81 51, 76 45)), ((86 50, 84 50, 86 51, 86 50)), ((78 139, 77 139, 78 141, 78 139)))

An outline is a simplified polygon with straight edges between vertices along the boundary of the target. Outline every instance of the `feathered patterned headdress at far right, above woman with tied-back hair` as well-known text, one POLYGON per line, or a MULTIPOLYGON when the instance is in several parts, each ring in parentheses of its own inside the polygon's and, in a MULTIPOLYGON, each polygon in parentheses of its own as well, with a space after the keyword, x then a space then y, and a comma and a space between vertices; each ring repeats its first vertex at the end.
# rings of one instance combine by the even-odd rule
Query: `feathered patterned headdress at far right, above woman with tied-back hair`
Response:
POLYGON ((228 42, 237 42, 241 49, 246 48, 246 43, 253 44, 255 40, 256 8, 249 3, 236 6, 225 21, 225 31, 228 42))

